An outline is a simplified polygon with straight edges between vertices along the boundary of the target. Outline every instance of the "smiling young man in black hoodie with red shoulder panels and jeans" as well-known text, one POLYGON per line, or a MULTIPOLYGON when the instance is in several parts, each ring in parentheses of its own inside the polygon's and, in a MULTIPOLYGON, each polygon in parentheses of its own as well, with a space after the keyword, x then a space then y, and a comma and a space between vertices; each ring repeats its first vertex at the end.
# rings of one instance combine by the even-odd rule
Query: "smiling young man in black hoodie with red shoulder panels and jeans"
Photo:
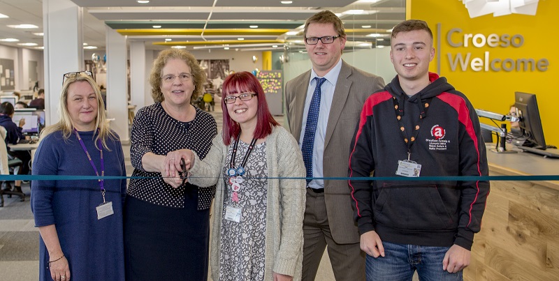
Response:
POLYGON ((462 280, 489 192, 478 116, 463 93, 429 73, 435 56, 426 22, 392 31, 398 75, 363 105, 352 141, 349 186, 368 280, 462 280), (441 176, 436 181, 351 179, 441 176))

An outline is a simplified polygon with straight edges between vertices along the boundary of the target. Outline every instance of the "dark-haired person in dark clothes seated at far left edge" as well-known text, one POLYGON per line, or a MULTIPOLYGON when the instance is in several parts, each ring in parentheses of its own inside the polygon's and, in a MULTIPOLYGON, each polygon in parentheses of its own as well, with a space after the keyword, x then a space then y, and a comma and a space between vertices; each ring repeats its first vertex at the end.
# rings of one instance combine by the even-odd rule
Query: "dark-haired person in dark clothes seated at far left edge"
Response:
MULTIPOLYGON (((20 119, 19 125, 16 125, 12 121, 14 112, 13 105, 10 102, 2 102, 0 104, 0 126, 6 128, 6 144, 17 144, 20 139, 25 139, 22 134, 22 127, 25 125, 25 119, 20 119)), ((8 146, 8 154, 22 160, 23 165, 20 174, 29 174, 29 160, 31 160, 29 151, 10 151, 10 147, 8 146)), ((6 183, 6 188, 4 188, 4 190, 11 189, 11 186, 6 183)), ((22 192, 21 181, 15 181, 15 191, 22 192)))

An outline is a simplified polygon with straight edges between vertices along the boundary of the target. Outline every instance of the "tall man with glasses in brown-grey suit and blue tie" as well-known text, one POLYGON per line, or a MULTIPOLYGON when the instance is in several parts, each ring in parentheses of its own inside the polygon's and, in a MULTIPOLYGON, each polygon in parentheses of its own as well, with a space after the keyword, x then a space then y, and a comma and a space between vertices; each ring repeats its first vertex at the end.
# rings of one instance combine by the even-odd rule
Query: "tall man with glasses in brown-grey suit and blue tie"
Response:
MULTIPOLYGON (((305 160, 307 177, 345 178, 361 108, 371 93, 384 88, 384 80, 342 61, 346 34, 342 21, 331 11, 310 17, 303 36, 312 69, 286 83, 289 128, 305 155, 307 115, 316 111, 310 104, 319 92, 316 130, 307 132, 314 135, 308 159, 312 160, 308 164, 305 160), (323 77, 326 80, 319 82, 323 77)), ((345 180, 312 179, 307 183, 302 280, 314 280, 326 245, 336 280, 365 280, 365 255, 359 246, 350 192, 345 180)))

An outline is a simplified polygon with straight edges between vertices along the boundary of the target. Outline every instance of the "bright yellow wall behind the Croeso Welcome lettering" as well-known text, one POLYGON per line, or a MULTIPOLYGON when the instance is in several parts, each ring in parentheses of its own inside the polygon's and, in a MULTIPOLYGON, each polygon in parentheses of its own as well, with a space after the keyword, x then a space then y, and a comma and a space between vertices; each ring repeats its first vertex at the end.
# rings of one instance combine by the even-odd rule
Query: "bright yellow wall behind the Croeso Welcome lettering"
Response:
MULTIPOLYGON (((514 92, 535 93, 542 116, 546 143, 559 146, 559 128, 556 116, 559 113, 559 29, 556 27, 559 1, 540 0, 537 13, 532 15, 504 15, 493 17, 484 15, 470 18, 462 1, 445 0, 408 0, 411 3, 409 18, 425 20, 433 30, 435 49, 437 48, 437 24, 441 24, 440 47, 440 75, 447 77, 458 91, 465 93, 475 108, 486 109, 491 112, 507 114, 509 105, 514 103, 514 92), (495 33, 499 37, 508 34, 523 36, 524 42, 520 47, 474 47, 471 39, 468 47, 452 47, 447 40, 447 33, 451 29, 462 29, 460 33, 453 33, 453 43, 463 41, 465 33, 483 34, 486 38, 495 33), (549 66, 546 71, 495 71, 489 67, 486 71, 485 63, 481 71, 472 70, 468 64, 466 70, 457 66, 451 70, 450 61, 458 54, 463 58, 470 53, 473 58, 485 60, 488 52, 489 61, 493 59, 547 59, 549 66), (449 54, 451 60, 449 60, 449 54)), ((518 38, 517 38, 518 39, 518 38)), ((478 41, 479 42, 479 41, 478 41)), ((518 43, 518 40, 515 40, 518 43)), ((436 52, 437 50, 435 50, 436 52)), ((496 66, 500 66, 497 63, 496 66)), ((510 66, 510 64, 507 64, 510 66)), ((437 72, 437 57, 433 60, 430 70, 437 72)), ((482 118, 484 123, 491 123, 482 118)), ((507 126, 508 128, 508 126, 507 126)))

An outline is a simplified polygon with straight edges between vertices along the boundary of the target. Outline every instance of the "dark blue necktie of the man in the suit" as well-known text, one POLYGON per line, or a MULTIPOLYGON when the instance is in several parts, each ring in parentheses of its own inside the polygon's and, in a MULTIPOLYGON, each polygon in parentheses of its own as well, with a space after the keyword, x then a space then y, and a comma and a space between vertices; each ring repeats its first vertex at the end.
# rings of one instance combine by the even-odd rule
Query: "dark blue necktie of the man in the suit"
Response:
MULTIPOLYGON (((317 123, 319 121, 320 112, 320 86, 326 81, 326 78, 314 77, 317 79, 317 87, 314 88, 312 99, 310 100, 309 112, 307 113, 307 126, 305 127, 305 135, 303 136, 303 145, 301 151, 303 152, 303 162, 307 169, 307 178, 312 178, 312 151, 314 148, 314 133, 317 132, 317 123)), ((307 184, 310 179, 307 179, 307 184)))

